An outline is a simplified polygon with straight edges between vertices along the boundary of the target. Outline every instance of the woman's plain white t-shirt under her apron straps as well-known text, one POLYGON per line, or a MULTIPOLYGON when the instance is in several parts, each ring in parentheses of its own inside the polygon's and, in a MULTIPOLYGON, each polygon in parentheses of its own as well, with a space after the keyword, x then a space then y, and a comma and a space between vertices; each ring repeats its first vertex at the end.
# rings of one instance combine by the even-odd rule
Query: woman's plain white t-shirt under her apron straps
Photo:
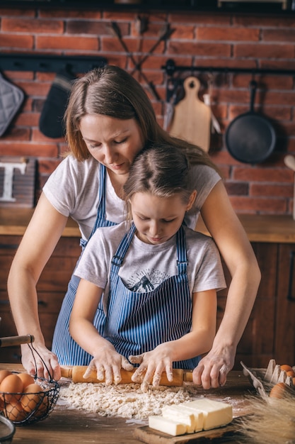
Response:
MULTIPOLYGON (((193 188, 197 199, 192 210, 187 213, 187 226, 195 229, 199 210, 221 177, 207 165, 194 165, 190 169, 193 188)), ((71 216, 79 225, 81 237, 88 239, 96 221, 100 173, 98 161, 89 157, 83 162, 73 155, 67 156, 48 178, 43 192, 59 213, 71 216)), ((108 174, 106 175, 106 217, 108 221, 125 221, 125 203, 115 193, 108 174)))

